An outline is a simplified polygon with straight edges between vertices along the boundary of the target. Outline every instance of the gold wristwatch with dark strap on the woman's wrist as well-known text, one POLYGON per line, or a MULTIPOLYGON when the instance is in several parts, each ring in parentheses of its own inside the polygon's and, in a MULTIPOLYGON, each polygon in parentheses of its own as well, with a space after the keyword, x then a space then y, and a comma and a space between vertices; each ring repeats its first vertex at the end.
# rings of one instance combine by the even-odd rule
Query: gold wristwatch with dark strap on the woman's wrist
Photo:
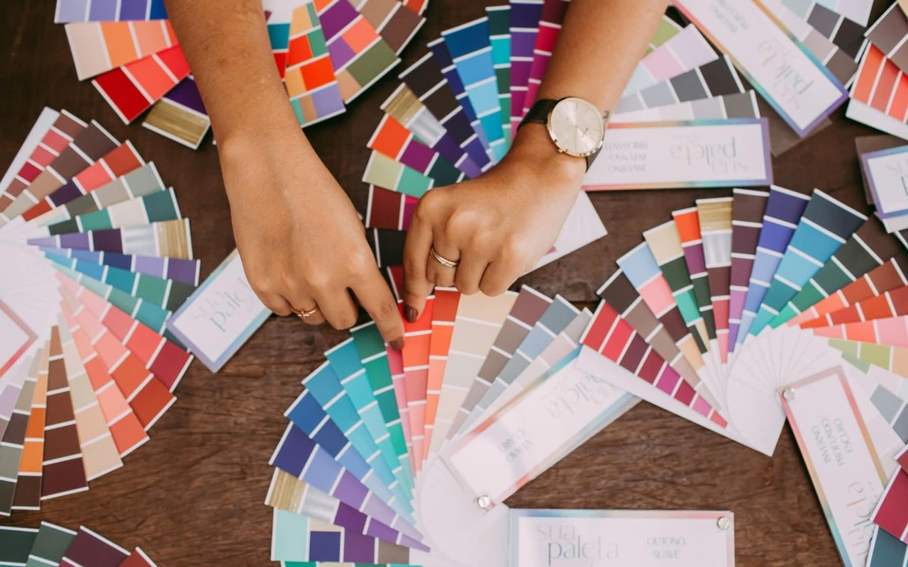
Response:
POLYGON ((520 126, 528 122, 545 124, 558 153, 587 158, 588 171, 602 149, 608 114, 600 114, 595 104, 576 96, 557 101, 541 99, 529 109, 520 126))

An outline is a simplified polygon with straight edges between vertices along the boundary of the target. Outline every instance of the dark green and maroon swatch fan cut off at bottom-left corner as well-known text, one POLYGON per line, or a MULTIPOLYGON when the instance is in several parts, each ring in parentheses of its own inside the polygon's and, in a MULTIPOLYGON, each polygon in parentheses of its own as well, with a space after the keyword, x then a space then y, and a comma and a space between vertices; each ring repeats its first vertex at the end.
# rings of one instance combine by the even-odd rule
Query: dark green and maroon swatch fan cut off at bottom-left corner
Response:
POLYGON ((74 531, 49 522, 37 528, 0 526, 0 565, 155 567, 141 547, 129 551, 85 526, 74 531))

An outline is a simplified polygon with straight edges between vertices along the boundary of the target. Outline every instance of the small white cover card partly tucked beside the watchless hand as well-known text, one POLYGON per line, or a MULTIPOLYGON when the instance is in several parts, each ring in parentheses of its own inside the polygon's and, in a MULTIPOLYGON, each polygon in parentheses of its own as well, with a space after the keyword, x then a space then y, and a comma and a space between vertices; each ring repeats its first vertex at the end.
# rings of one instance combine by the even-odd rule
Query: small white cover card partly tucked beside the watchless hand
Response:
POLYGON ((216 371, 270 314, 252 291, 240 255, 233 250, 167 327, 206 367, 216 371))

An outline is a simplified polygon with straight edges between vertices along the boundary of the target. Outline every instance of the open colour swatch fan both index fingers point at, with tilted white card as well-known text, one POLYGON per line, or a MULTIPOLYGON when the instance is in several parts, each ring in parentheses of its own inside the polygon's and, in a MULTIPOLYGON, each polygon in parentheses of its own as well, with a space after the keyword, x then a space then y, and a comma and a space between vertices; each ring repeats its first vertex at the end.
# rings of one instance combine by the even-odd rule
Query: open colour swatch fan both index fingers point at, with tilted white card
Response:
POLYGON ((436 288, 402 351, 353 328, 285 413, 271 559, 507 564, 504 500, 637 403, 577 371, 590 318, 527 287, 436 288))

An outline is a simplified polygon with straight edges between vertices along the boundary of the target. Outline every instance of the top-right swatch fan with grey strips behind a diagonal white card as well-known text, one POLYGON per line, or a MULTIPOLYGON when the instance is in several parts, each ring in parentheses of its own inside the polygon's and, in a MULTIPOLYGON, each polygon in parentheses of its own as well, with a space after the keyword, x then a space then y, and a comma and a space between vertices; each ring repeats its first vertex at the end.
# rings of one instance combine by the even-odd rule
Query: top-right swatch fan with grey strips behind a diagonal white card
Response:
MULTIPOLYGON (((677 0, 674 5, 761 94, 772 151, 832 123, 848 99, 873 0, 677 0)), ((728 186, 741 186, 732 183, 728 186)))

